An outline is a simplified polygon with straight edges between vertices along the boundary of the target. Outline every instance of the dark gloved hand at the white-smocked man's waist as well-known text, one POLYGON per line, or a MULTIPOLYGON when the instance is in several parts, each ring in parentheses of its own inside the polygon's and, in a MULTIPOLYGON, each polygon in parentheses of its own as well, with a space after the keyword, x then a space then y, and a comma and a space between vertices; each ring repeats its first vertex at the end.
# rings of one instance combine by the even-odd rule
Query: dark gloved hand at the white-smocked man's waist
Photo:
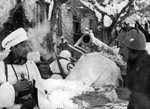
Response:
POLYGON ((13 84, 15 91, 21 92, 30 89, 32 86, 32 82, 28 81, 26 79, 17 81, 15 84, 13 84))

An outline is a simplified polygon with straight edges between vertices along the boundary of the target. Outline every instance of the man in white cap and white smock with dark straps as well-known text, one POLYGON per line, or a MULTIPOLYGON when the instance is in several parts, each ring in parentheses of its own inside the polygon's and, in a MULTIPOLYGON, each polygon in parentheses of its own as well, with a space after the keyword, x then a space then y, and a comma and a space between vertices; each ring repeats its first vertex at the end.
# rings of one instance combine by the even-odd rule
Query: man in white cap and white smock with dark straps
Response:
POLYGON ((2 47, 10 52, 0 61, 0 108, 21 104, 21 109, 33 109, 37 103, 32 95, 36 96, 33 79, 39 70, 27 60, 28 39, 26 31, 19 28, 2 41, 2 47))

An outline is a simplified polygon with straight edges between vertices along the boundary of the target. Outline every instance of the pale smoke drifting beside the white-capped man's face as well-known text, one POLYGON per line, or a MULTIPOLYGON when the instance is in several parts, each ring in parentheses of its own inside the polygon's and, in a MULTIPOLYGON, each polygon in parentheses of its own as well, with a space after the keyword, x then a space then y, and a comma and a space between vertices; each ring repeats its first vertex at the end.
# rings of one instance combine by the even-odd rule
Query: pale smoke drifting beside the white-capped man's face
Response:
POLYGON ((48 60, 52 57, 52 53, 47 47, 47 35, 50 33, 50 25, 48 21, 38 24, 34 28, 28 29, 28 36, 31 39, 31 47, 33 51, 39 51, 40 56, 48 60))

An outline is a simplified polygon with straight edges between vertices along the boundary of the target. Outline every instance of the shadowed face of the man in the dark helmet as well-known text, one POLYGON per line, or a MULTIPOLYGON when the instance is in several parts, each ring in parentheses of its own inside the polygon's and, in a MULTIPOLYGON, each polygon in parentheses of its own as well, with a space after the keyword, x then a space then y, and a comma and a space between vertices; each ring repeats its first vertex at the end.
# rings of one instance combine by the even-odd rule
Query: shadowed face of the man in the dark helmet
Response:
POLYGON ((119 43, 119 54, 122 56, 123 61, 128 61, 129 59, 129 48, 124 44, 119 43))

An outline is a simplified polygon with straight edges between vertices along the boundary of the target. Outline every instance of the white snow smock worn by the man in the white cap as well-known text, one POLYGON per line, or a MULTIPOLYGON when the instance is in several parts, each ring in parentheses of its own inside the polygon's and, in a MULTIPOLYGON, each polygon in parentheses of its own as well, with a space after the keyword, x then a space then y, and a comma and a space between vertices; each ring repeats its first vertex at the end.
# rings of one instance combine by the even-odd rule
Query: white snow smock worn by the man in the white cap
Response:
MULTIPOLYGON (((25 65, 13 65, 19 79, 21 79, 21 74, 24 74, 24 77, 26 79, 29 79, 30 81, 32 81, 33 79, 41 78, 39 70, 34 62, 27 61, 26 65, 28 70, 25 65)), ((15 91, 14 87, 11 84, 15 83, 17 79, 11 65, 7 65, 7 68, 9 83, 6 82, 4 62, 0 61, 0 83, 2 83, 2 85, 0 86, 0 107, 13 106, 15 100, 15 91)))

